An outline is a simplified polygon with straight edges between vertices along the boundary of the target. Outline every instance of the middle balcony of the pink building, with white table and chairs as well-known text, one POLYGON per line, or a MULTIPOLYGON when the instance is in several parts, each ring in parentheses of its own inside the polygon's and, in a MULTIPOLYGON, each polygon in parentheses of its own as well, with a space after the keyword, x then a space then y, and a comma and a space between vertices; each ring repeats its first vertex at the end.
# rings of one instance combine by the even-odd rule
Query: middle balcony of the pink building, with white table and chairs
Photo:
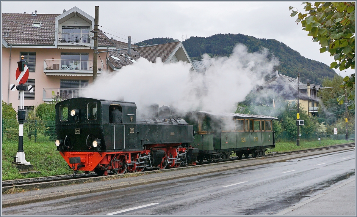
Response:
MULTIPOLYGON (((102 73, 103 61, 98 61, 97 73, 102 73)), ((46 75, 93 76, 93 60, 44 60, 46 75)))

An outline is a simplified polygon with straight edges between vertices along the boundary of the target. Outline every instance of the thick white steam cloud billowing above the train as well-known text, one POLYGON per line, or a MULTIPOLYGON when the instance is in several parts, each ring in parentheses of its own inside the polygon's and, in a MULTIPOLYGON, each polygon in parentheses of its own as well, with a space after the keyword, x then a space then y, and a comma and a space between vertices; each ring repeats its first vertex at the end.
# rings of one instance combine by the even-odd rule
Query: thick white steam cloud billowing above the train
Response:
POLYGON ((140 58, 118 72, 103 74, 84 96, 135 102, 138 110, 158 103, 185 111, 232 112, 278 64, 268 54, 266 49, 248 53, 246 46, 238 44, 230 57, 212 58, 205 74, 190 71, 191 65, 182 61, 164 64, 159 57, 156 63, 140 58))

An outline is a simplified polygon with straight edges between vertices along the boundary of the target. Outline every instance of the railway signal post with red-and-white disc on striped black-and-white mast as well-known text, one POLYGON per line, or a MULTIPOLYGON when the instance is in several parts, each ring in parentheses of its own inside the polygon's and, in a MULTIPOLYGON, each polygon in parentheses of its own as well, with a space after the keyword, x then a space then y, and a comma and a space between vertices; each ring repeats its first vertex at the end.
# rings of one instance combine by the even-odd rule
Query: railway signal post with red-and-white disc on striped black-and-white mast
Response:
MULTIPOLYGON (((27 68, 27 62, 24 60, 24 56, 21 56, 20 62, 17 62, 18 68, 16 70, 16 81, 20 85, 16 86, 16 90, 20 92, 20 109, 17 110, 17 119, 19 120, 19 148, 16 153, 16 159, 14 163, 19 165, 30 165, 25 159, 24 152, 24 120, 25 120, 25 110, 24 110, 24 98, 25 91, 27 91, 27 86, 24 83, 29 78, 29 68, 27 68)), ((11 88, 11 87, 10 87, 11 88)), ((33 91, 32 87, 31 90, 33 91)))

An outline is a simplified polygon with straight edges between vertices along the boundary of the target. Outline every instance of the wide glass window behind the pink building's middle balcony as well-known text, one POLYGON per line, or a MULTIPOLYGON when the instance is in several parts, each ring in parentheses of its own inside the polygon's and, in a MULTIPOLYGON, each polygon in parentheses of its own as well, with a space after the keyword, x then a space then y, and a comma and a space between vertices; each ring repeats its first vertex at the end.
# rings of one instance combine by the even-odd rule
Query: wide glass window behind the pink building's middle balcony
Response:
POLYGON ((89 53, 61 53, 61 70, 88 70, 89 53))

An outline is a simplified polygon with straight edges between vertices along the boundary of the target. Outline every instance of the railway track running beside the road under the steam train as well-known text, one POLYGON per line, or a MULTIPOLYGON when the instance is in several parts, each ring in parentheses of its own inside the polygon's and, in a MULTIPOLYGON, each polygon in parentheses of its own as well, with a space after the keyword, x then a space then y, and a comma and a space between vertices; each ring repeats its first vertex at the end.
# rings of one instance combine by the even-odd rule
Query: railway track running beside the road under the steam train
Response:
MULTIPOLYGON (((355 142, 339 144, 339 145, 332 145, 332 146, 325 146, 325 147, 319 147, 319 148, 312 148, 312 149, 305 149, 305 150, 269 153, 269 154, 266 154, 265 157, 303 153, 303 152, 317 151, 317 150, 323 150, 323 149, 342 148, 342 147, 347 147, 347 146, 355 146, 355 142)), ((249 159, 249 158, 252 158, 252 157, 244 157, 244 158, 242 158, 242 160, 249 159)), ((229 160, 220 161, 220 162, 227 162, 227 161, 234 161, 234 160, 241 160, 241 159, 238 157, 231 157, 229 160)), ((197 164, 197 165, 205 165, 205 164, 210 164, 210 163, 211 162, 202 162, 201 164, 197 164)), ((77 176, 62 175, 62 176, 48 176, 48 177, 40 177, 40 178, 31 178, 31 179, 8 180, 8 181, 2 181, 2 187, 11 187, 11 186, 17 186, 17 185, 30 185, 30 184, 36 184, 36 183, 42 183, 42 182, 76 180, 76 179, 84 179, 84 178, 97 177, 97 176, 99 176, 99 175, 92 172, 87 175, 86 174, 77 174, 77 176)))

